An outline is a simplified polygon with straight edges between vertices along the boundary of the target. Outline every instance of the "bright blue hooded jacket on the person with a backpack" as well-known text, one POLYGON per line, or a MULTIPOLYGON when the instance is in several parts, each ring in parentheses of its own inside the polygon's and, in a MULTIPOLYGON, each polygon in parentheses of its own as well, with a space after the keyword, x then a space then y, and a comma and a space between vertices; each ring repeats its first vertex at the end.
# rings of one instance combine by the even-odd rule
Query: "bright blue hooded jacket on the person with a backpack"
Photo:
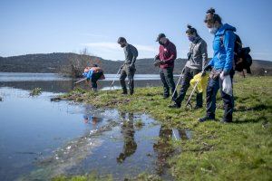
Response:
POLYGON ((213 40, 213 58, 209 61, 214 69, 230 71, 233 66, 234 44, 236 40, 236 28, 223 24, 215 34, 213 40))

